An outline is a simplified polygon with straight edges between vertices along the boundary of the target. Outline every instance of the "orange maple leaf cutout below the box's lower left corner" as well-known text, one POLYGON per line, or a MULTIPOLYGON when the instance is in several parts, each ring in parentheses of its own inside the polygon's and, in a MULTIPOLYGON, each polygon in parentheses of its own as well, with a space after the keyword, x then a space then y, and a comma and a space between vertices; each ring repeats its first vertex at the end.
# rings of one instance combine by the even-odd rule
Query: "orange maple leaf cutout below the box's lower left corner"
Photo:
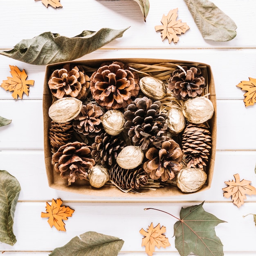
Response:
POLYGON ((52 205, 46 202, 46 213, 41 212, 42 218, 49 218, 48 223, 52 227, 56 227, 59 231, 66 231, 65 223, 63 220, 67 220, 67 217, 71 217, 74 213, 70 207, 61 206, 62 200, 58 198, 56 201, 52 199, 52 205))

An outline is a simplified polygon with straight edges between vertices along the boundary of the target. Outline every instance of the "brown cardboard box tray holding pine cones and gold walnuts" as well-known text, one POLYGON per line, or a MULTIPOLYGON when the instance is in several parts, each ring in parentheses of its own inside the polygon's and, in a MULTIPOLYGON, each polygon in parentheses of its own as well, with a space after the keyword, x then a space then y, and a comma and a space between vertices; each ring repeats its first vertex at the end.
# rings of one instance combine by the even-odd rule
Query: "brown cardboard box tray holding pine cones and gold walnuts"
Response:
MULTIPOLYGON (((141 63, 141 64, 157 64, 157 63, 179 63, 179 65, 191 65, 194 62, 188 61, 177 61, 177 60, 166 60, 166 59, 148 59, 148 58, 117 58, 117 59, 97 59, 97 60, 87 60, 87 61, 71 61, 69 63, 73 63, 76 65, 85 65, 88 67, 96 67, 98 68, 103 62, 106 61, 120 61, 123 63, 141 63)), ((65 63, 56 63, 50 64, 46 66, 45 72, 45 81, 44 81, 44 90, 43 90, 43 119, 44 119, 44 152, 45 152, 45 168, 46 174, 48 179, 48 184, 53 189, 59 189, 64 191, 69 191, 73 193, 82 193, 85 195, 93 195, 93 196, 104 196, 104 197, 129 197, 129 198, 145 198, 145 197, 170 197, 170 196, 177 196, 177 195, 186 195, 187 193, 183 193, 175 186, 165 186, 162 188, 157 189, 156 191, 142 189, 141 193, 124 193, 118 188, 114 186, 103 186, 100 189, 93 188, 90 186, 90 183, 86 180, 76 180, 74 184, 68 186, 67 180, 63 180, 59 173, 54 171, 53 166, 51 164, 52 160, 52 153, 51 153, 51 146, 49 143, 48 138, 48 131, 51 119, 48 115, 49 106, 52 104, 52 94, 48 87, 48 79, 52 72, 60 67, 62 67, 65 63)), ((211 67, 204 63, 197 63, 200 65, 204 65, 207 70, 207 79, 208 79, 208 86, 209 86, 209 99, 213 103, 214 107, 214 115, 208 121, 211 136, 212 136, 212 149, 211 155, 209 156, 209 162, 207 164, 207 182, 204 184, 202 189, 197 192, 204 191, 210 188, 211 181, 213 178, 213 169, 214 169, 214 160, 215 160, 215 153, 216 153, 216 93, 215 93, 215 86, 213 81, 213 74, 211 72, 211 67)), ((85 71, 86 72, 86 71, 85 71)), ((88 74, 86 72, 86 74, 88 74)), ((90 74, 88 74, 90 76, 90 74)))

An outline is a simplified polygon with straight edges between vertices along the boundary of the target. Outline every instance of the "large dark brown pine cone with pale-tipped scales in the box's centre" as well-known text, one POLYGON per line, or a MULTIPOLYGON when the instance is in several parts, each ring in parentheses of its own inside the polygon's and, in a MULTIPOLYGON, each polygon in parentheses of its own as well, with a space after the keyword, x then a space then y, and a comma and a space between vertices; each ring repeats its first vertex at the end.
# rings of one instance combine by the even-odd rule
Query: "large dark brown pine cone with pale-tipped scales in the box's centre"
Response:
POLYGON ((160 101, 153 101, 147 97, 136 98, 124 112, 126 123, 124 127, 129 129, 130 141, 142 150, 153 144, 160 147, 166 139, 164 131, 167 129, 165 123, 166 114, 159 114, 160 101))

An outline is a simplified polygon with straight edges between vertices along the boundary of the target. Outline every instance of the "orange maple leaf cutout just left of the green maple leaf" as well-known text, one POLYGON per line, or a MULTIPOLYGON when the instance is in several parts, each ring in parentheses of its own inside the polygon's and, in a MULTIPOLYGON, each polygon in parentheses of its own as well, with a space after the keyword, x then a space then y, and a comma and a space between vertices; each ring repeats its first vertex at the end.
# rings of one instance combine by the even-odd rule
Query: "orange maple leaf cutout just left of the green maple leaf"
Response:
POLYGON ((153 223, 149 226, 147 231, 144 229, 141 229, 139 233, 143 236, 141 246, 146 247, 146 253, 149 256, 153 255, 153 252, 155 252, 155 246, 159 249, 160 247, 168 247, 171 244, 168 241, 168 238, 163 235, 163 233, 166 232, 166 227, 162 226, 160 228, 160 224, 158 224, 156 227, 153 227, 153 223))

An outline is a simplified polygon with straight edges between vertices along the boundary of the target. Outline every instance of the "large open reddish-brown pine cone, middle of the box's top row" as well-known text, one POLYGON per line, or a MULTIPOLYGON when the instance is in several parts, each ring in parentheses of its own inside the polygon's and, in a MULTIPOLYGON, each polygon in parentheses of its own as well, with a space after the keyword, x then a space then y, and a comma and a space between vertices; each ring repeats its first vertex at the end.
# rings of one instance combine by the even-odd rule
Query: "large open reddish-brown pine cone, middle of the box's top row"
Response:
POLYGON ((90 77, 92 97, 100 106, 110 109, 125 108, 139 93, 139 85, 124 64, 114 62, 101 66, 90 77))

